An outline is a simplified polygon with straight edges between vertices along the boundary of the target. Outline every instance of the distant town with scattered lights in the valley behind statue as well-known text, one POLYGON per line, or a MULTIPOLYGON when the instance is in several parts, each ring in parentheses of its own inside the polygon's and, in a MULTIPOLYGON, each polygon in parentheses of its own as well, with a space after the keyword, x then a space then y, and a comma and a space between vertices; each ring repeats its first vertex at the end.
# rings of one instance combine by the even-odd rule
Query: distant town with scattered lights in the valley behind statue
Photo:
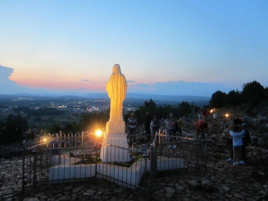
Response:
MULTIPOLYGON (((123 103, 123 115, 138 110, 147 99, 127 98, 123 103)), ((186 100, 187 101, 187 100, 186 100)), ((156 100, 160 105, 178 105, 179 101, 156 100)), ((181 101, 180 101, 181 102, 181 101)), ((192 102, 188 100, 188 102, 192 102)), ((207 105, 208 100, 194 102, 196 105, 207 105)), ((54 124, 61 127, 66 124, 79 123, 85 113, 106 112, 110 108, 109 99, 94 99, 80 96, 25 96, 0 95, 0 120, 12 115, 21 115, 27 119, 30 129, 47 130, 54 124)), ((29 131, 30 132, 30 131, 29 131)))

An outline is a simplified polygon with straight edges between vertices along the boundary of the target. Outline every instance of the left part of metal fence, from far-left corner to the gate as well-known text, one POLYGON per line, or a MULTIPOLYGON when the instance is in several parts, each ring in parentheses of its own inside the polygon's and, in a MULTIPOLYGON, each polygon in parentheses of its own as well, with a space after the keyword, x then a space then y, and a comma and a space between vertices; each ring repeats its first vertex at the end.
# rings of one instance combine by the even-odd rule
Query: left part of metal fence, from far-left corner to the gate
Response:
POLYGON ((140 187, 147 169, 146 145, 139 150, 136 143, 129 148, 127 142, 120 147, 118 142, 94 135, 93 132, 65 135, 35 135, 34 142, 24 142, 22 166, 22 191, 26 186, 37 184, 81 181, 85 179, 105 178, 118 185, 130 188, 140 187), (101 148, 107 147, 102 153, 101 148), (113 156, 112 156, 112 153, 113 156), (119 160, 119 153, 123 159, 119 160), (108 163, 101 158, 110 156, 108 163), (112 158, 113 157, 113 158, 112 158), (127 163, 124 163, 127 161, 127 163), (121 162, 121 163, 120 163, 121 162))

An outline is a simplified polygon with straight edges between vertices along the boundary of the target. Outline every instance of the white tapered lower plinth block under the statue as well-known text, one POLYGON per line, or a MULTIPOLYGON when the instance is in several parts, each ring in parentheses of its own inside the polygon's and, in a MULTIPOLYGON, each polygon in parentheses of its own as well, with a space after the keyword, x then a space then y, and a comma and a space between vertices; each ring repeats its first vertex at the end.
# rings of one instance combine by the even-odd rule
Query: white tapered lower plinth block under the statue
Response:
MULTIPOLYGON (((106 125, 107 128, 107 125, 106 125)), ((104 133, 103 142, 109 145, 114 145, 116 147, 111 147, 109 145, 102 145, 100 158, 102 162, 127 162, 130 160, 129 154, 127 151, 128 143, 127 143, 127 135, 125 133, 122 134, 108 134, 104 133), (122 148, 118 148, 122 147, 122 148), (123 149, 126 148, 126 149, 123 149)))

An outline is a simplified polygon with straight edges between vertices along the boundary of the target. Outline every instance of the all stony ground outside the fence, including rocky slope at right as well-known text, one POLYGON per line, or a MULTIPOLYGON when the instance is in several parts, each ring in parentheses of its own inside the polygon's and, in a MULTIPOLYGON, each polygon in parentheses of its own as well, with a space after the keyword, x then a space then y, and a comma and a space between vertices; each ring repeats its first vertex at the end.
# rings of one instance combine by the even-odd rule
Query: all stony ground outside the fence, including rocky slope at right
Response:
MULTIPOLYGON (((2 150, 13 149, 13 158, 0 159, 0 200, 268 200, 268 130, 265 130, 268 123, 263 123, 264 118, 268 121, 268 107, 265 108, 255 117, 248 116, 244 109, 228 110, 233 116, 243 117, 250 125, 252 143, 247 147, 245 161, 249 166, 231 169, 230 163, 225 161, 230 157, 227 128, 232 121, 221 117, 208 121, 207 172, 191 169, 172 174, 159 173, 149 199, 141 190, 118 187, 105 181, 48 184, 35 191, 27 189, 25 195, 21 195, 22 157, 14 157, 21 151, 20 148, 14 149, 19 146, 11 144, 2 150)), ((226 111, 218 112, 223 115, 226 111)), ((197 119, 185 120, 184 127, 188 133, 196 132, 195 121, 197 119)), ((1 151, 0 155, 3 155, 1 151)), ((6 158, 9 157, 7 154, 6 158)), ((147 177, 142 186, 148 188, 148 184, 147 177)))

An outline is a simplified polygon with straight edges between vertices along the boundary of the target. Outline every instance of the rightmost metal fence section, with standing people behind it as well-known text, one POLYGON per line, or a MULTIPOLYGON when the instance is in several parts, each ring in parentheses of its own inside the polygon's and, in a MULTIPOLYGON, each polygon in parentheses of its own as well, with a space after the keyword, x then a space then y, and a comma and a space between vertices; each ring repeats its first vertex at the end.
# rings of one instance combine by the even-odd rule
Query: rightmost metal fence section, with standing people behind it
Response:
POLYGON ((203 139, 202 135, 185 137, 180 136, 180 133, 161 133, 158 141, 158 170, 206 169, 206 142, 206 135, 203 139))

